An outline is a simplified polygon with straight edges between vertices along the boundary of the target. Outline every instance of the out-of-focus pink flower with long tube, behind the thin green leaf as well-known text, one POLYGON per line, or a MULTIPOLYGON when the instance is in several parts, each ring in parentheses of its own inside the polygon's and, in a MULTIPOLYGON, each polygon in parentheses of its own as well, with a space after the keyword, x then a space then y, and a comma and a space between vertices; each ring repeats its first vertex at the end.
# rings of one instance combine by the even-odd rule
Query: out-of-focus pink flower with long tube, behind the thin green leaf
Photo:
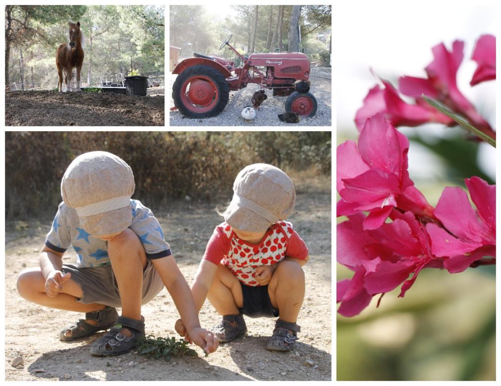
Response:
POLYGON ((473 105, 459 91, 456 74, 463 60, 464 42, 452 43, 452 51, 447 51, 443 43, 432 48, 434 60, 425 68, 427 79, 403 76, 399 79, 399 91, 424 104, 421 95, 438 100, 452 111, 464 115, 476 128, 495 137, 490 125, 476 111, 473 105))

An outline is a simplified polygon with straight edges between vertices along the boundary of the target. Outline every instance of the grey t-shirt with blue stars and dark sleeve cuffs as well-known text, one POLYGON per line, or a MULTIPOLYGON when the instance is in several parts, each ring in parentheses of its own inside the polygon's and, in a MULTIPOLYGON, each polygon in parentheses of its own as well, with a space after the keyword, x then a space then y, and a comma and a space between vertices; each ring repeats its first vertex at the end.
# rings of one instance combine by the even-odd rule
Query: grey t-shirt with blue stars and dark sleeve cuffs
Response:
MULTIPOLYGON (((131 200, 132 225, 129 227, 141 240, 146 257, 159 259, 170 256, 170 246, 163 239, 162 228, 153 213, 138 200, 131 200)), ((47 234, 45 245, 56 252, 65 252, 70 245, 78 255, 76 265, 80 268, 109 264, 108 243, 88 234, 80 225, 75 209, 64 202, 47 234)))

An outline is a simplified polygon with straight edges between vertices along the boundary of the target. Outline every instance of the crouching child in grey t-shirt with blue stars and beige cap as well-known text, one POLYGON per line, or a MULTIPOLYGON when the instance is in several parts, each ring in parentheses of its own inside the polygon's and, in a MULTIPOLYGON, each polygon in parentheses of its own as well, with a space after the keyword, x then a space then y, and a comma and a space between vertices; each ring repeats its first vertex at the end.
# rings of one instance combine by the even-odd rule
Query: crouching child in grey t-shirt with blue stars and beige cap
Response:
POLYGON ((116 155, 92 151, 75 158, 61 182, 63 203, 40 254, 40 267, 20 274, 18 291, 46 307, 85 313, 61 330, 61 340, 111 327, 90 348, 93 355, 107 356, 136 346, 144 336, 141 305, 165 285, 192 341, 213 352, 217 339, 200 328, 190 288, 157 219, 131 199, 134 188, 131 168, 116 155), (76 265, 62 262, 70 245, 78 255, 76 265))

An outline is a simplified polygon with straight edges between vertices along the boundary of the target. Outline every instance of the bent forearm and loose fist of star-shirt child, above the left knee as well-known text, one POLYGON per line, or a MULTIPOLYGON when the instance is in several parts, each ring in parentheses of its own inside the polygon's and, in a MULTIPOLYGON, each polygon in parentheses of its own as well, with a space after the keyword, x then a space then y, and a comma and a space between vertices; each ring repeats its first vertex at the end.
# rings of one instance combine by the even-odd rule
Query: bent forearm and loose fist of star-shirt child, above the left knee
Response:
POLYGON ((71 278, 71 273, 64 274, 64 252, 56 252, 44 245, 40 253, 40 271, 45 278, 45 291, 48 296, 55 297, 62 289, 63 284, 71 278))

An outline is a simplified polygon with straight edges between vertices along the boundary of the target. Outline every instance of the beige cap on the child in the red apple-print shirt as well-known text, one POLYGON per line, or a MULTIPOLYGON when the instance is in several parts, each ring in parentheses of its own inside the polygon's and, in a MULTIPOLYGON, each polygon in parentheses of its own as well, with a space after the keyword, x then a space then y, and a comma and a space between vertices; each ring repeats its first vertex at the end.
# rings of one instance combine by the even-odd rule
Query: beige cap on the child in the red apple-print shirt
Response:
POLYGON ((293 211, 296 191, 289 176, 267 163, 245 166, 233 183, 224 220, 239 231, 264 232, 293 211))

